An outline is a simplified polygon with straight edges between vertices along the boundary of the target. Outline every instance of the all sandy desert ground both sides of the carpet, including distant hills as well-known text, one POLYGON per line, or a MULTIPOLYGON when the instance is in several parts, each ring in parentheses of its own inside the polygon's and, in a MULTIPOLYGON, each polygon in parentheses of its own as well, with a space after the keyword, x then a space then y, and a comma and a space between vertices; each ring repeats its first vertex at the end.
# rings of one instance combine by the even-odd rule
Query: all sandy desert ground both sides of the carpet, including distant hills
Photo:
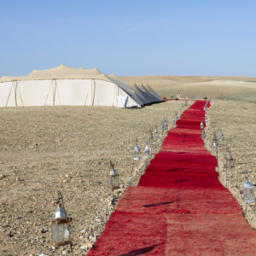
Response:
MULTIPOLYGON (((130 77, 148 83, 160 96, 204 96, 208 110, 206 147, 212 152, 213 132, 224 132, 218 143, 218 172, 224 186, 224 158, 229 147, 236 160, 228 172, 227 187, 244 207, 241 197, 245 174, 256 184, 256 79, 223 77, 130 77), (239 164, 244 163, 244 164, 239 164)), ((69 247, 53 247, 49 222, 61 191, 67 214, 73 218, 74 255, 86 255, 104 229, 114 203, 125 187, 137 185, 148 160, 135 162, 135 138, 143 149, 149 130, 160 130, 181 102, 163 102, 145 108, 103 107, 0 109, 0 254, 63 255, 69 247), (119 172, 120 189, 107 185, 109 161, 119 172), (132 171, 132 172, 131 172, 132 171)), ((160 148, 160 140, 152 150, 160 148)), ((153 152, 153 153, 154 153, 153 152)), ((213 153, 212 153, 213 154, 213 153)), ((214 202, 212 202, 214 203, 214 202)), ((256 228, 254 205, 247 206, 248 222, 256 228)))

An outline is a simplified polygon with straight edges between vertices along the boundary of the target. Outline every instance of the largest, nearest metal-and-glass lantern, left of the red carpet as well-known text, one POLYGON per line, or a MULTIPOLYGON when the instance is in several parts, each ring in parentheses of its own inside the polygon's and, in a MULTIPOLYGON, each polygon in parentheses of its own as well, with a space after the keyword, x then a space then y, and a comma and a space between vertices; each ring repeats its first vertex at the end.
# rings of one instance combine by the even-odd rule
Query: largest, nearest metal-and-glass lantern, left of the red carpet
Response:
POLYGON ((58 207, 51 221, 51 235, 55 247, 72 245, 70 236, 70 223, 72 218, 67 217, 61 192, 58 192, 58 207))

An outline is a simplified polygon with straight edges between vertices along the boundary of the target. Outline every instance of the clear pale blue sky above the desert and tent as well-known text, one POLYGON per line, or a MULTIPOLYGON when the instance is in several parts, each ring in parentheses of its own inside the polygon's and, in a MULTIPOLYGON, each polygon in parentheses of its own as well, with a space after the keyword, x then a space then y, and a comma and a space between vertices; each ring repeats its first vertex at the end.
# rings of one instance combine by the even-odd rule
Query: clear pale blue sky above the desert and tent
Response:
POLYGON ((0 0, 0 76, 60 65, 256 77, 256 1, 0 0))

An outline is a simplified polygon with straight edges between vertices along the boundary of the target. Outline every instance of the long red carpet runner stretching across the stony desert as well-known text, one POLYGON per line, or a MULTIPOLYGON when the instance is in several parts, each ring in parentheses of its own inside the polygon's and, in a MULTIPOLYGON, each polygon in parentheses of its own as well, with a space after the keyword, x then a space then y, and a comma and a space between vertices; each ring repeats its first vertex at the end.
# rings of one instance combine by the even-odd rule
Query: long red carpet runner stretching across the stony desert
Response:
POLYGON ((196 101, 177 120, 88 255, 256 255, 256 232, 204 148, 205 103, 196 101))

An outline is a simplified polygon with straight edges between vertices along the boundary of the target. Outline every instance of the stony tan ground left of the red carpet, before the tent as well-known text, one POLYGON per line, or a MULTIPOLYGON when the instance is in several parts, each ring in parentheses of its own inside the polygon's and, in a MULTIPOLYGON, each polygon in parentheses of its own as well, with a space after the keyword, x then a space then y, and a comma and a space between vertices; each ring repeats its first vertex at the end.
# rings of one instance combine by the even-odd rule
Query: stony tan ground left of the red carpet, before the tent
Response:
MULTIPOLYGON (((60 190, 73 218, 73 254, 85 255, 104 229, 125 187, 137 185, 146 160, 135 162, 135 138, 142 148, 165 117, 181 102, 141 109, 0 109, 0 255, 65 255, 55 248, 50 220, 60 190), (107 185, 109 161, 120 176, 120 189, 107 185)), ((160 148, 160 141, 154 150, 160 148)))

